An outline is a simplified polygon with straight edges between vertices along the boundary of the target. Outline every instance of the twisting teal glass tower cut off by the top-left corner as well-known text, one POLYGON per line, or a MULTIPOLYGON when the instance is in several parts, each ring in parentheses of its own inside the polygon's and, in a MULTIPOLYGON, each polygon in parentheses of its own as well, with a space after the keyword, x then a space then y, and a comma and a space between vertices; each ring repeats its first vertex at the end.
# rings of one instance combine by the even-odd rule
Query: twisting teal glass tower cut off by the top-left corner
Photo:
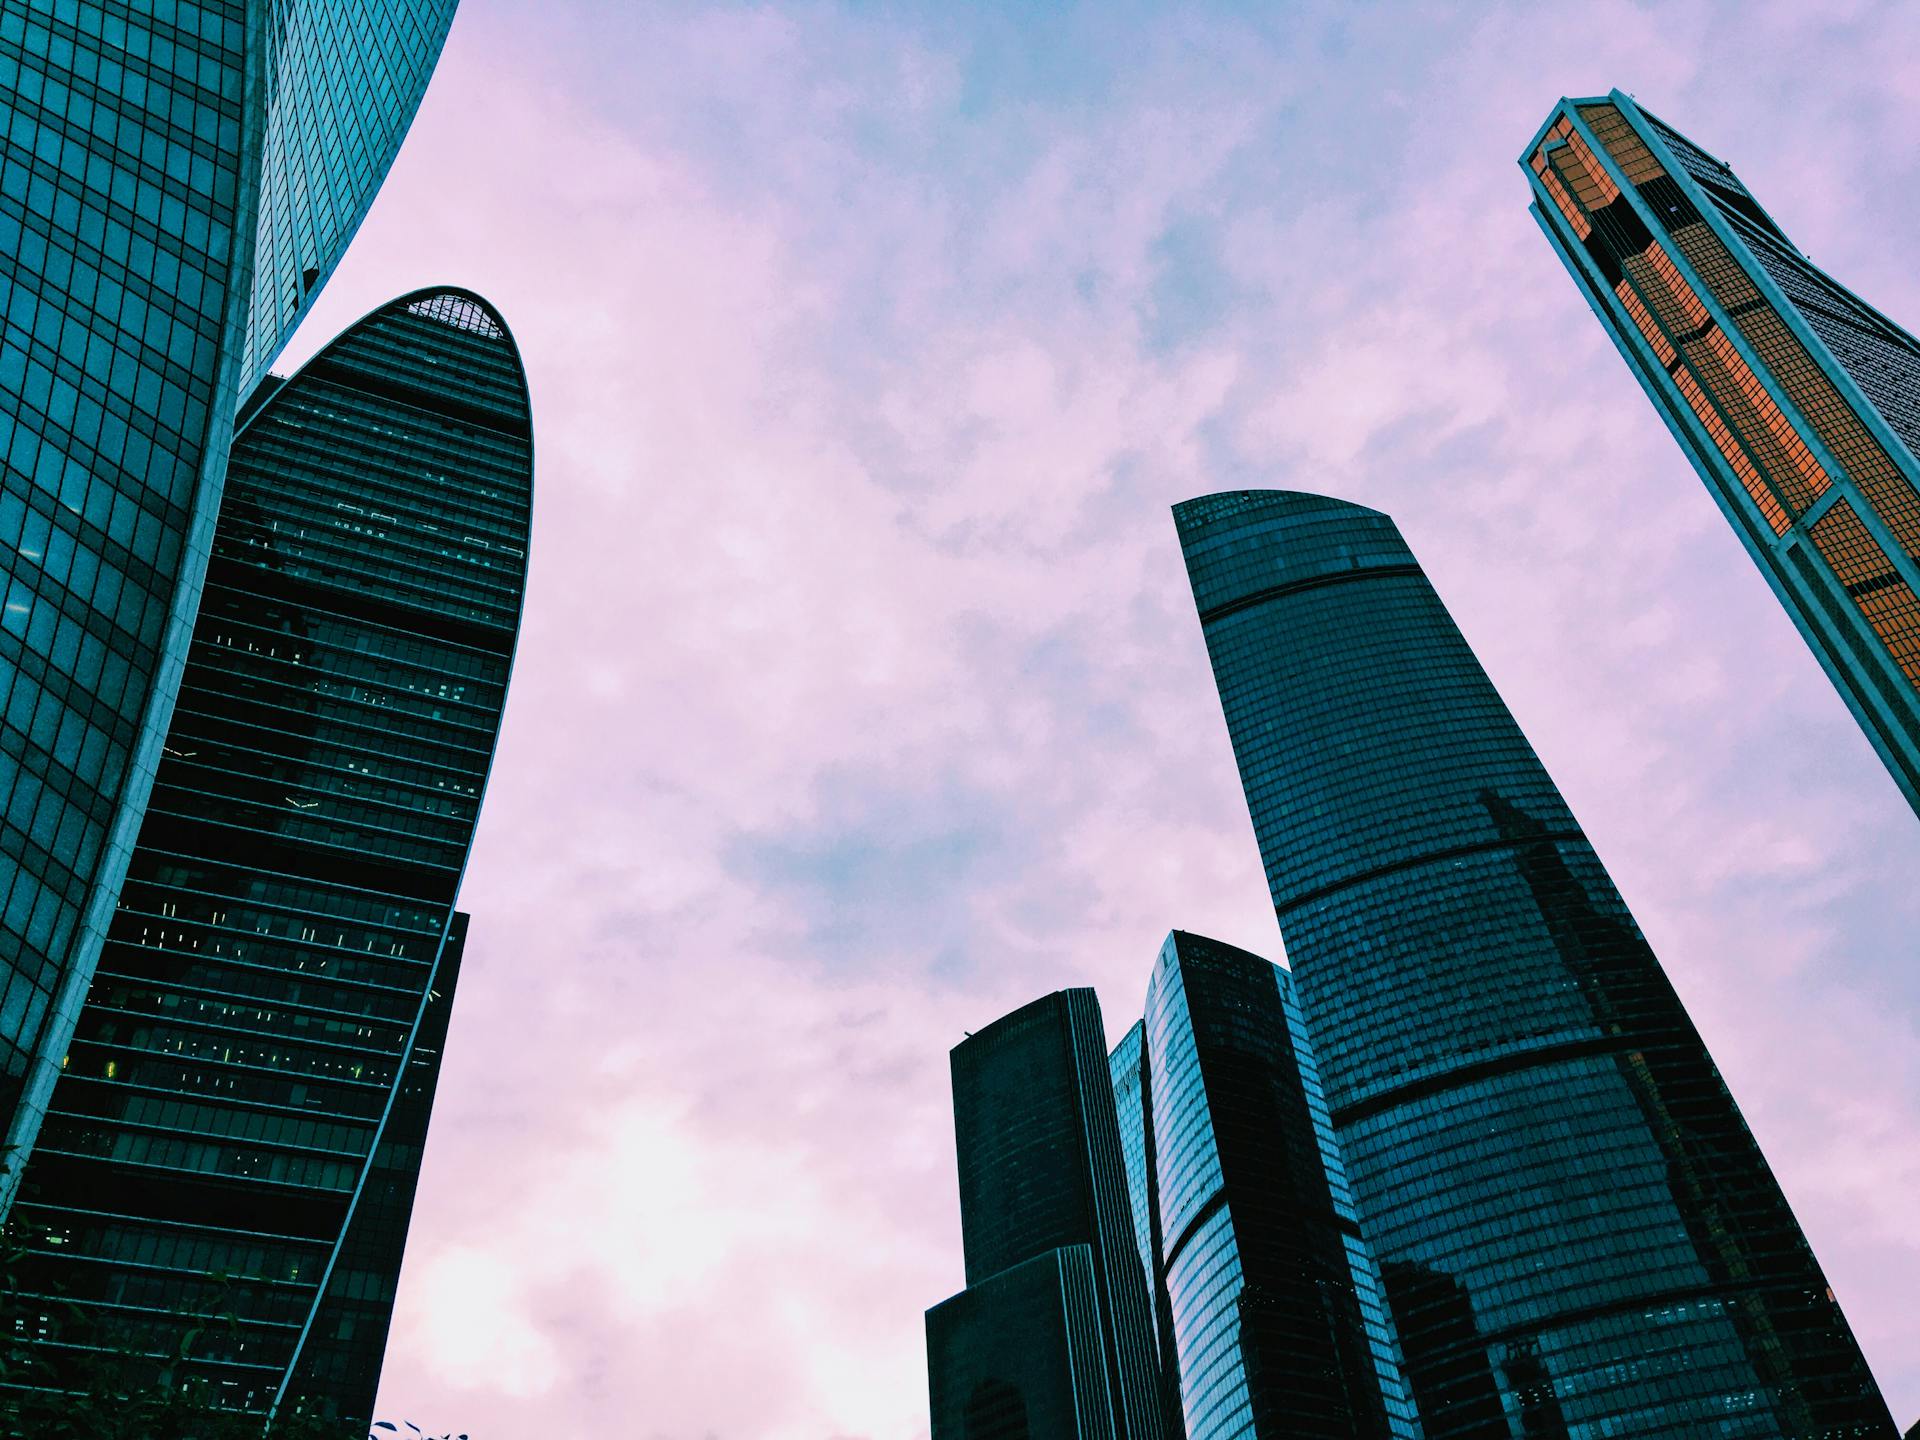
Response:
POLYGON ((113 918, 234 405, 453 0, 0 6, 0 1213, 113 918))

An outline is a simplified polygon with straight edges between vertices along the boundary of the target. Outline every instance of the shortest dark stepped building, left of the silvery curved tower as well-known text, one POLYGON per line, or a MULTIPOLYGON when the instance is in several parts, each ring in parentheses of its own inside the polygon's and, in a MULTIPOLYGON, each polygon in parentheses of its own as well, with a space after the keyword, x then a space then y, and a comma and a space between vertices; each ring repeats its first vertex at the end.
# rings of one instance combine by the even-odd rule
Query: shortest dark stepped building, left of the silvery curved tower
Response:
POLYGON ((927 1311, 933 1440, 1023 1436, 1029 1419, 1002 1417, 1037 1413, 1079 1413, 1083 1428, 1035 1425, 1035 1440, 1160 1440, 1152 1309, 1100 1002, 1060 991, 1002 1016, 954 1046, 952 1083, 968 1288, 927 1311), (1106 1428, 1073 1405, 1089 1325, 1106 1428), (1035 1348, 998 1336, 1033 1336, 1035 1348), (1073 1363, 1035 1367, 1039 1348, 1073 1363))

